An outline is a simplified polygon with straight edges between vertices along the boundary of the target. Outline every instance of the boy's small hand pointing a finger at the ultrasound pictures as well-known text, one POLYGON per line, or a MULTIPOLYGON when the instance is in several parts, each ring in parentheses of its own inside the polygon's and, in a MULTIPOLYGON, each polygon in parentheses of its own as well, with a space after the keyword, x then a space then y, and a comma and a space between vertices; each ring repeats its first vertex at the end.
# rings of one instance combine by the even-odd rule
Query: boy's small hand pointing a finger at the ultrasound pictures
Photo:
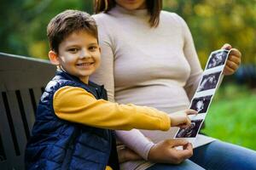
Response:
POLYGON ((172 127, 189 127, 191 121, 188 115, 195 115, 198 112, 195 110, 184 110, 184 111, 177 111, 170 115, 171 119, 171 126, 172 127))

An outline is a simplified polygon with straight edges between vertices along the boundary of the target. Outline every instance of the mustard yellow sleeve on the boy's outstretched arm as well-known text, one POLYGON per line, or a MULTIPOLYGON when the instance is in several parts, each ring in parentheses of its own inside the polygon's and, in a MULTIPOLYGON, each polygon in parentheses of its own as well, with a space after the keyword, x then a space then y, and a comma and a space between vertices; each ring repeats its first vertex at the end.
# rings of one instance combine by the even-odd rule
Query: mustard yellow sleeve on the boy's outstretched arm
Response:
POLYGON ((96 99, 83 88, 63 87, 54 94, 56 116, 69 122, 91 127, 130 130, 168 130, 170 117, 162 111, 146 106, 119 105, 96 99))

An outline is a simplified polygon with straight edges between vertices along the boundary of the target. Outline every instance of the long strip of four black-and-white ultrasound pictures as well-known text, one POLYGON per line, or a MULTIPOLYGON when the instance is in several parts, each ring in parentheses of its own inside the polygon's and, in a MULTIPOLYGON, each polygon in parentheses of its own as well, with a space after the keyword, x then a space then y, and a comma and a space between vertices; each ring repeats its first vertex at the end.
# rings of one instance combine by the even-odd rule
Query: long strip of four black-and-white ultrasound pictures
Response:
POLYGON ((213 51, 203 71, 201 81, 190 102, 190 109, 198 111, 198 114, 190 115, 191 125, 187 128, 179 128, 175 134, 175 139, 187 139, 193 142, 201 129, 201 125, 206 119, 207 111, 211 105, 214 94, 224 77, 224 65, 231 50, 219 49, 213 51))

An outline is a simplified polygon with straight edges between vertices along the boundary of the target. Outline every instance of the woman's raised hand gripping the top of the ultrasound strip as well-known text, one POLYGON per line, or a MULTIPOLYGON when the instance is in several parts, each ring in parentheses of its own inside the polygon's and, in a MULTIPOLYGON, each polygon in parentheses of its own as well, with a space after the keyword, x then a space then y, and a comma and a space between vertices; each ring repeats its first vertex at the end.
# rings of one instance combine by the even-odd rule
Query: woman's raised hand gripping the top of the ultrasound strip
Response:
POLYGON ((224 75, 232 75, 236 72, 239 65, 241 64, 241 52, 236 48, 232 48, 232 46, 228 43, 224 44, 222 49, 231 49, 229 58, 224 67, 224 75))

